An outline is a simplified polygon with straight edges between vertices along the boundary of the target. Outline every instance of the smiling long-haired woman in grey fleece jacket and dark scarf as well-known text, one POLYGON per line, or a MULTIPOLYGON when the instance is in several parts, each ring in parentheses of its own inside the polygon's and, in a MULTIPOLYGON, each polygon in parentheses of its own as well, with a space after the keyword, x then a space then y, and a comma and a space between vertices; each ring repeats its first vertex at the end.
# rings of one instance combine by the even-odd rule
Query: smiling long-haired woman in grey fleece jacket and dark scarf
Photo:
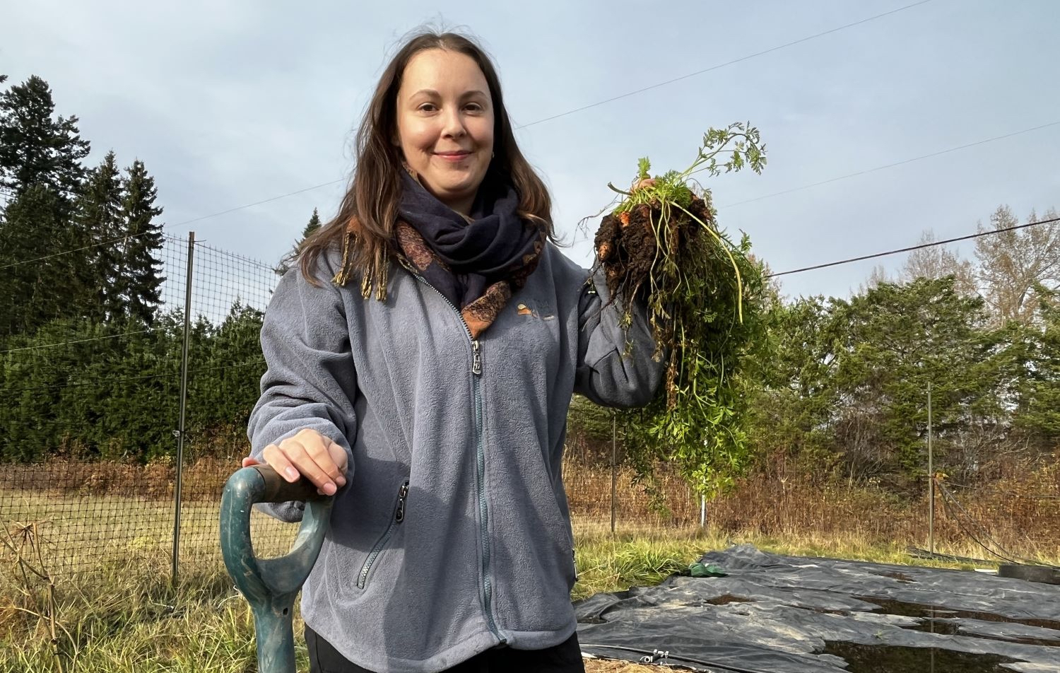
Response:
POLYGON ((409 40, 357 149, 338 216, 266 314, 244 460, 335 494, 302 590, 311 670, 582 671, 567 407, 572 392, 651 400, 643 313, 620 326, 603 283, 555 247, 548 192, 469 39, 409 40))

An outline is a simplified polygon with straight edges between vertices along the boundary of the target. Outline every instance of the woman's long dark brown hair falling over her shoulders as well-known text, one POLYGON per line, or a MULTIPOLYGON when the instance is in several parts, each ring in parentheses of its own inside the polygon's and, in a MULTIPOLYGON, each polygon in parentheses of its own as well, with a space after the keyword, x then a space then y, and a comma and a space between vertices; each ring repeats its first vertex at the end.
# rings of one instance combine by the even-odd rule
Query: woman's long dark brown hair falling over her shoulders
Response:
POLYGON ((490 86, 494 108, 494 157, 484 181, 510 182, 519 195, 519 213, 544 228, 548 237, 555 241, 551 198, 515 143, 500 79, 490 57, 467 37, 424 31, 405 42, 375 86, 372 102, 357 131, 356 165, 338 214, 306 238, 299 250, 302 274, 311 283, 317 284, 313 268, 320 254, 333 246, 341 247, 342 266, 333 281, 344 285, 351 276, 357 274, 364 297, 369 297, 374 286, 376 297, 386 298, 387 269, 395 253, 394 227, 401 199, 401 171, 404 170, 401 149, 392 142, 398 134, 398 90, 409 60, 430 49, 461 53, 478 64, 490 86))

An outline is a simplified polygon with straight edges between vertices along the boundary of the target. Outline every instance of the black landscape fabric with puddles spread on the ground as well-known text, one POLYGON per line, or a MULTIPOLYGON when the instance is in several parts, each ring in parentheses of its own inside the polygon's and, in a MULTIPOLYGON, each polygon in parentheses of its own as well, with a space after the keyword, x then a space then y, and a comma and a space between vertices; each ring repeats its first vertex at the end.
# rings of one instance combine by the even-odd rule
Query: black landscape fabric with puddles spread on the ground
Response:
POLYGON ((948 570, 710 552, 575 604, 582 651, 718 673, 1060 673, 1060 586, 948 570))

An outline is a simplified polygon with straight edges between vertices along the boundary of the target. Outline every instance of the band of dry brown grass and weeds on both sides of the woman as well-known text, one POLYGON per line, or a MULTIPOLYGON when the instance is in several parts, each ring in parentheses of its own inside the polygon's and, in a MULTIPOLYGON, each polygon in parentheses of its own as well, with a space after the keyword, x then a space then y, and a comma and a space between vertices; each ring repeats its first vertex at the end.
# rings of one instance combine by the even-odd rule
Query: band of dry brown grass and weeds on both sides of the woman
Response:
MULTIPOLYGON (((184 468, 182 534, 189 542, 201 538, 201 544, 215 544, 212 512, 235 467, 234 460, 204 458, 184 468)), ((1015 555, 1060 557, 1060 467, 1009 464, 991 476, 989 484, 976 489, 948 485, 967 515, 937 498, 936 547, 977 549, 973 555, 997 561, 974 545, 971 531, 991 548, 1015 555)), ((611 470, 568 460, 564 478, 576 530, 610 529, 611 470)), ((661 502, 653 502, 632 480, 632 472, 618 471, 618 532, 666 535, 699 527, 700 499, 678 478, 659 473, 661 502)), ((108 537, 92 538, 100 550, 113 548, 122 553, 130 545, 164 549, 172 535, 174 484, 174 466, 164 461, 5 465, 0 471, 0 521, 41 521, 45 535, 57 544, 86 542, 89 532, 100 535, 102 529, 108 537)), ((706 519, 711 530, 735 539, 928 545, 926 493, 909 496, 879 485, 822 482, 789 471, 782 463, 773 465, 770 474, 740 481, 731 493, 708 502, 706 519)))

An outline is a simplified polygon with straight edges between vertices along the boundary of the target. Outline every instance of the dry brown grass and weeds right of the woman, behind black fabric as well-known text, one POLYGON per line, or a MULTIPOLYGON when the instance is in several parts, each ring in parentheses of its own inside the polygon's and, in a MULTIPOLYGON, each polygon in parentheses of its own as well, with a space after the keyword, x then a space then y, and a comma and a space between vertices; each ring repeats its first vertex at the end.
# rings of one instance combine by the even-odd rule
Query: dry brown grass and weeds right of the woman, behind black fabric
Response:
MULTIPOLYGON (((962 488, 942 481, 957 504, 936 492, 936 547, 966 548, 969 533, 995 550, 1022 556, 1060 557, 1060 468, 1010 470, 989 484, 962 488)), ((611 471, 567 465, 564 479, 576 526, 580 519, 599 525, 611 518, 611 471)), ((633 474, 618 473, 616 519, 620 531, 695 527, 699 497, 679 479, 661 473, 661 509, 642 490, 632 486, 633 474)), ((855 536, 883 545, 928 546, 926 482, 922 493, 903 495, 880 485, 822 483, 810 476, 776 471, 738 482, 731 493, 706 504, 707 526, 732 536, 837 538, 855 536)), ((979 548, 978 555, 996 557, 979 548)))

